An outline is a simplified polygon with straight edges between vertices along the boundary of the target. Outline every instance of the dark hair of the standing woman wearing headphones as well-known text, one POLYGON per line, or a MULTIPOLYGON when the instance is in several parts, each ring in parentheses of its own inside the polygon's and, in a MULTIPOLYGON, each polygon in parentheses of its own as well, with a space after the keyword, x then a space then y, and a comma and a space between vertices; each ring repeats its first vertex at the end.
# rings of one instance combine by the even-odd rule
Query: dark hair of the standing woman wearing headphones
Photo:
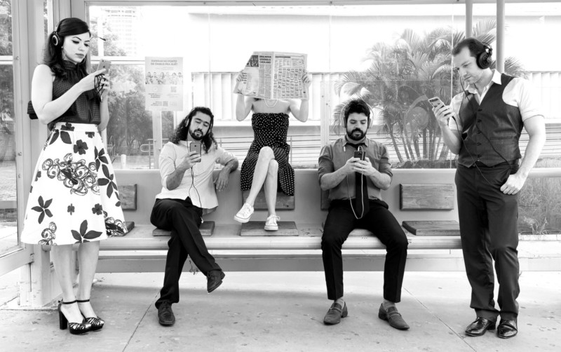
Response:
MULTIPOLYGON (((60 20, 53 33, 49 34, 45 46, 43 63, 50 67, 56 76, 67 79, 67 72, 64 69, 64 60, 62 59, 62 44, 65 42, 65 37, 84 34, 86 32, 91 36, 90 28, 86 22, 83 22, 83 20, 79 18, 65 18, 60 20)), ((78 68, 83 74, 87 75, 86 62, 87 57, 84 57, 84 60, 78 64, 78 68)))

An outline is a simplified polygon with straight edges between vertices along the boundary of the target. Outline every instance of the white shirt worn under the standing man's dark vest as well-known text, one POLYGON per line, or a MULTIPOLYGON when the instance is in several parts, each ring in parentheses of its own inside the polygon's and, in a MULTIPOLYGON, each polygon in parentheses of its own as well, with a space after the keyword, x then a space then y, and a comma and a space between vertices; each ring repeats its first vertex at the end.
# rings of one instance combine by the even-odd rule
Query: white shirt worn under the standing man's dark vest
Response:
MULTIPOLYGON (((481 101, 483 100, 483 98, 485 98, 485 95, 487 95, 487 92, 489 91, 489 88, 491 88, 493 83, 501 84, 501 74, 497 72, 496 69, 493 70, 493 78, 491 79, 489 84, 487 84, 487 86, 483 88, 483 92, 481 94, 479 94, 477 88, 475 88, 475 86, 471 84, 467 87, 467 90, 469 93, 472 93, 474 95, 475 100, 477 100, 478 104, 481 104, 481 101)), ((454 97, 452 98, 450 108, 452 109, 452 111, 454 111, 454 116, 456 116, 457 121, 454 121, 454 119, 450 119, 448 121, 448 127, 450 127, 450 130, 462 130, 461 121, 457 116, 460 116, 459 110, 463 99, 464 93, 454 95, 454 97)), ((532 86, 527 79, 516 77, 512 81, 510 81, 506 88, 503 90, 503 102, 520 109, 522 122, 533 116, 543 116, 539 107, 539 102, 535 98, 535 95, 532 93, 532 86)))

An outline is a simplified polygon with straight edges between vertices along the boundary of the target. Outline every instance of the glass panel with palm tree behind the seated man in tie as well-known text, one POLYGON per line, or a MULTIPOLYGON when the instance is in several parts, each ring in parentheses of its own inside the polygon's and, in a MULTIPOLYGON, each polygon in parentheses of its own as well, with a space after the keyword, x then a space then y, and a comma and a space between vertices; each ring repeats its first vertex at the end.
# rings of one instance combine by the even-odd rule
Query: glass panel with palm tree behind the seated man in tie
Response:
POLYGON ((330 140, 345 133, 345 103, 361 97, 372 107, 368 137, 385 144, 394 168, 450 168, 455 156, 427 100, 452 98, 452 24, 463 13, 460 5, 334 7, 330 140))

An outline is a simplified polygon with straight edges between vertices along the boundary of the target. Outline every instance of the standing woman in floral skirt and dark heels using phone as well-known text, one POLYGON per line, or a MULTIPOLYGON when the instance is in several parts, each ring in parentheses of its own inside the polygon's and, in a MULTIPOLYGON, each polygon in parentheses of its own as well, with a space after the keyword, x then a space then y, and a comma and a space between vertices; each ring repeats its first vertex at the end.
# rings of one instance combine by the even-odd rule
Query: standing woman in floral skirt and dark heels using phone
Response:
POLYGON ((50 245, 62 288, 60 329, 100 330, 90 305, 100 240, 126 232, 111 160, 100 133, 109 123, 109 79, 88 74, 88 25, 61 20, 48 36, 43 65, 32 80, 32 104, 50 134, 39 155, 27 200, 22 242, 50 245), (79 243, 79 285, 72 287, 72 244, 79 243))

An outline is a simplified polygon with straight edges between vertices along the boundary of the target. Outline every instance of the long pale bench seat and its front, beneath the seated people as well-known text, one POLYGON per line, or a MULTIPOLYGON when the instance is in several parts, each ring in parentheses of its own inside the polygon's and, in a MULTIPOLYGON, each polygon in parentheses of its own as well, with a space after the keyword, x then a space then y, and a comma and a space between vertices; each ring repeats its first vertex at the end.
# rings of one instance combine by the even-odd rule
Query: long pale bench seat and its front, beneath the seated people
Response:
MULTIPOLYGON (((154 229, 151 225, 140 225, 127 236, 102 241, 97 271, 163 271, 169 237, 153 236, 154 229)), ((242 237, 239 231, 241 225, 216 224, 212 236, 205 237, 207 248, 225 271, 323 271, 320 224, 299 224, 299 236, 295 237, 242 237)), ((461 255, 450 251, 461 248, 459 236, 407 233, 407 240, 407 270, 464 270, 461 255)), ((384 268, 385 246, 368 231, 354 230, 345 241, 343 252, 346 271, 384 268)), ((184 269, 189 270, 189 266, 184 269)))

